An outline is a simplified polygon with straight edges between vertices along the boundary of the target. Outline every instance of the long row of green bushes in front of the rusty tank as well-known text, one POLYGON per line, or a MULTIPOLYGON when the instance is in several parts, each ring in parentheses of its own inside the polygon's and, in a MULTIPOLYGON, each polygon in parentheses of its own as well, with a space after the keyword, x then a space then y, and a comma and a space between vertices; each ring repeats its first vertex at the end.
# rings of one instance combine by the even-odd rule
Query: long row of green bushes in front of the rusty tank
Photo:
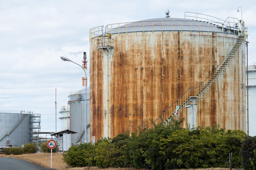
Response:
POLYGON ((72 146, 63 154, 63 159, 72 167, 152 170, 212 166, 228 168, 229 154, 232 153, 233 168, 242 168, 241 162, 246 160, 245 163, 249 167, 247 169, 254 170, 256 139, 247 141, 245 132, 241 130, 225 132, 219 125, 197 127, 193 130, 189 127, 181 128, 182 121, 184 119, 180 121, 172 119, 167 125, 154 125, 154 128, 141 130, 139 134, 134 132, 130 136, 126 133, 117 135, 113 139, 100 139, 95 146, 91 144, 72 146), (245 147, 242 149, 243 157, 240 154, 241 144, 245 147))

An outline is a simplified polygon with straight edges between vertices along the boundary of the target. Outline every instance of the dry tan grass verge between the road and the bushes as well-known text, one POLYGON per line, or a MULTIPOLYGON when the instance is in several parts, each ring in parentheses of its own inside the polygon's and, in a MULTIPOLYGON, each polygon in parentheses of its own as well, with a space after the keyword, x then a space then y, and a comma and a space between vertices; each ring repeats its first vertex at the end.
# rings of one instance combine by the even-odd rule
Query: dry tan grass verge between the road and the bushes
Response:
MULTIPOLYGON (((36 153, 24 155, 0 155, 0 157, 11 157, 29 161, 45 168, 51 168, 51 153, 36 153)), ((52 169, 55 170, 101 170, 97 167, 83 167, 83 168, 70 168, 63 161, 62 153, 52 153, 52 169)), ((105 168, 104 170, 137 170, 133 168, 105 168)), ((143 169, 145 170, 145 169, 143 169)), ((182 169, 181 169, 182 170, 182 169)), ((189 170, 206 170, 202 169, 189 169, 189 170)), ((211 168, 210 168, 211 170, 211 168)), ((213 168, 213 170, 229 170, 229 168, 213 168)), ((236 169, 233 169, 236 170, 236 169)))

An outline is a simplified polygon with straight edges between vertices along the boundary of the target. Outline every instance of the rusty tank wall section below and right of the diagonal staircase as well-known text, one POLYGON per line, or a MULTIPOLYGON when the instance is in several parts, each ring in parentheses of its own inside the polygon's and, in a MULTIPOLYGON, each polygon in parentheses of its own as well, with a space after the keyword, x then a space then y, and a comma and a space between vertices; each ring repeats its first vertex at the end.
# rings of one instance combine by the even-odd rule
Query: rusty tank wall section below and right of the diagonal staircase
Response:
POLYGON ((198 98, 198 125, 246 131, 245 46, 226 70, 198 98))

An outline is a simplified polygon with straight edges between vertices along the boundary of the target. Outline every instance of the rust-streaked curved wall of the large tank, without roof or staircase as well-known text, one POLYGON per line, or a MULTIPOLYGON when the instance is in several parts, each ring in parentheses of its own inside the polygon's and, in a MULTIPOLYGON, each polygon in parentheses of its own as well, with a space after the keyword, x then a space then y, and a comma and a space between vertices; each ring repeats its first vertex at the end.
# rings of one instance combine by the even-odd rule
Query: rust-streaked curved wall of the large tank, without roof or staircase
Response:
MULTIPOLYGON (((113 40, 109 46, 101 46, 104 37, 100 35, 90 38, 92 137, 112 138, 146 128, 213 72, 238 35, 199 28, 110 33, 106 37, 113 40)), ((196 125, 245 130, 244 85, 243 45, 224 73, 196 99, 196 125)), ((184 127, 189 123, 187 112, 179 110, 178 118, 185 117, 184 127)))

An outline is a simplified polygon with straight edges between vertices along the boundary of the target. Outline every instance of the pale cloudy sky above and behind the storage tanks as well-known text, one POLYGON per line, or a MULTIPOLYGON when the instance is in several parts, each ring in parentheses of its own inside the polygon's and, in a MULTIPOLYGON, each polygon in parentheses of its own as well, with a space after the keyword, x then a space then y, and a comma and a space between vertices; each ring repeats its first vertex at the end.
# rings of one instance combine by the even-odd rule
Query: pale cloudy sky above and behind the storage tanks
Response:
POLYGON ((89 61, 90 29, 164 18, 166 9, 172 18, 184 18, 185 12, 243 17, 248 62, 256 60, 255 0, 0 0, 0 110, 41 114, 41 131, 55 131, 55 101, 58 118, 69 92, 82 88, 83 70, 60 56, 82 64, 87 52, 89 61))

